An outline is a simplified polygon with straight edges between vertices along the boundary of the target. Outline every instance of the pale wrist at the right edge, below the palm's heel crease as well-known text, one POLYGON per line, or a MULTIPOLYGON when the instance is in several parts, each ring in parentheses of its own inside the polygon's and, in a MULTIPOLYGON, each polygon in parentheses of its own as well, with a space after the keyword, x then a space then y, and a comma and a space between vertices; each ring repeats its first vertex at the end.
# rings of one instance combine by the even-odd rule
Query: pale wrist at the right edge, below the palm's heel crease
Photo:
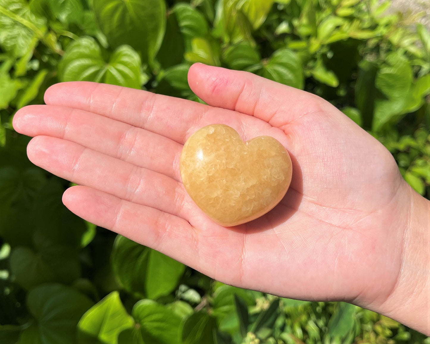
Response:
POLYGON ((373 308, 426 335, 430 335, 430 201, 405 183, 408 194, 401 267, 386 300, 373 308))

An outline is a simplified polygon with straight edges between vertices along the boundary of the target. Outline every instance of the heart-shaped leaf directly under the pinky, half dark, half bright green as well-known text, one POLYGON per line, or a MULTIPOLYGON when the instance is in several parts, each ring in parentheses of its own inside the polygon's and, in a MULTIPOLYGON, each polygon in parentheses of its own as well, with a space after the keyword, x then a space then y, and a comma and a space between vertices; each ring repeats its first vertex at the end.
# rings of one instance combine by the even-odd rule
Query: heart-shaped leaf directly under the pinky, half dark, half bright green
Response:
POLYGON ((124 289, 151 298, 171 293, 185 270, 174 259, 121 236, 114 243, 112 266, 124 289))

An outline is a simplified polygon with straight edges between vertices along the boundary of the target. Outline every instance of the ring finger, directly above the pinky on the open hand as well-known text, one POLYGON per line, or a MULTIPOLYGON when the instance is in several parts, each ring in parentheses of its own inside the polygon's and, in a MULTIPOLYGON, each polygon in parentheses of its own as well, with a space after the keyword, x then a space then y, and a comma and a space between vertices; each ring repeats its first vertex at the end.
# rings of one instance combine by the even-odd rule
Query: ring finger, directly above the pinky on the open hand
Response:
POLYGON ((183 185, 166 175, 49 136, 33 138, 27 154, 35 165, 76 184, 170 214, 190 213, 183 185))

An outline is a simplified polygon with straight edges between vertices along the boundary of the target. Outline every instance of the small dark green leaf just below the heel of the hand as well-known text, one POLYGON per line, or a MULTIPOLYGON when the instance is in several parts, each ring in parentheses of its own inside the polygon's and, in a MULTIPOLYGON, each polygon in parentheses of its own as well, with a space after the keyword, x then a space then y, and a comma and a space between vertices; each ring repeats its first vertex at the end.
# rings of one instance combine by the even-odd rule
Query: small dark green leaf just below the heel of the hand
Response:
POLYGON ((344 338, 355 325, 356 306, 339 302, 327 326, 327 334, 332 338, 344 338))

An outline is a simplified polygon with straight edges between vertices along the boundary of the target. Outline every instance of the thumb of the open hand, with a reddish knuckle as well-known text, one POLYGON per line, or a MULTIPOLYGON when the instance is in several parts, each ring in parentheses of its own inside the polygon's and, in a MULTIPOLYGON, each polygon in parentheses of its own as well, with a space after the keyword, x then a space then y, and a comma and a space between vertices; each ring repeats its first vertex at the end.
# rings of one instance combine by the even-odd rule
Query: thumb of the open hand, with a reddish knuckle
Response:
POLYGON ((193 92, 209 105, 257 117, 277 128, 331 105, 316 95, 244 71, 193 64, 193 92))

